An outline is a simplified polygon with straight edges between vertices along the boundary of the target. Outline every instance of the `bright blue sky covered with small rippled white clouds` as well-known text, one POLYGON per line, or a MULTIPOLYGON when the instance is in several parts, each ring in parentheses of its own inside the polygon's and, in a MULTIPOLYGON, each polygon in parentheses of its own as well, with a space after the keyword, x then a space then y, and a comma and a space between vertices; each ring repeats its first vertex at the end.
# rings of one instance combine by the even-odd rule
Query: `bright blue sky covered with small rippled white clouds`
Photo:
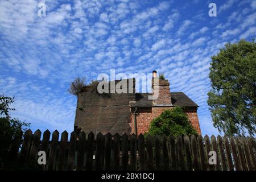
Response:
POLYGON ((210 57, 226 42, 256 34, 256 1, 0 2, 0 93, 15 96, 13 117, 31 129, 73 129, 76 76, 151 73, 200 105, 203 135, 218 134, 207 105, 210 57), (46 17, 38 4, 46 4, 46 17), (208 5, 217 5, 209 17, 208 5))

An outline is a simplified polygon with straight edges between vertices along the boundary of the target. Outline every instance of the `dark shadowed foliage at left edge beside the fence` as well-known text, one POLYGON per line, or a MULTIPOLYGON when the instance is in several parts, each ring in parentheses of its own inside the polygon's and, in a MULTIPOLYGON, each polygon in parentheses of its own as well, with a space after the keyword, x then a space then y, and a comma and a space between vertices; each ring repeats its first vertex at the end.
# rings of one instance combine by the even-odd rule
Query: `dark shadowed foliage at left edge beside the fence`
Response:
POLYGON ((12 145, 20 146, 21 137, 30 124, 21 122, 17 118, 9 115, 9 105, 14 103, 13 97, 0 95, 0 169, 14 168, 16 164, 11 164, 14 156, 10 151, 12 145))

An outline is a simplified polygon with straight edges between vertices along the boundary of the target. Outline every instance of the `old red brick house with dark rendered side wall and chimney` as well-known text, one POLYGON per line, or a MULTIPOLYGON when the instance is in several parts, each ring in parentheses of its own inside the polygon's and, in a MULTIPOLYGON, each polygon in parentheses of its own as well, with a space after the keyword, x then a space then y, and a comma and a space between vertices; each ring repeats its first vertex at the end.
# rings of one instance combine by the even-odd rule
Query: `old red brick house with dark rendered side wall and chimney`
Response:
MULTIPOLYGON (((86 86, 77 97, 75 130, 86 133, 92 131, 96 134, 143 134, 148 131, 152 119, 158 117, 163 110, 181 106, 184 107, 192 126, 201 134, 197 117, 199 106, 183 92, 170 92, 168 80, 159 79, 159 83, 155 84, 156 72, 152 75, 152 93, 136 93, 135 78, 132 78, 133 84, 127 84, 127 89, 132 89, 132 93, 100 94, 86 86), (152 96, 157 89, 158 98, 149 100, 148 96, 152 96)), ((116 85, 119 81, 121 80, 110 81, 109 85, 116 85)))

